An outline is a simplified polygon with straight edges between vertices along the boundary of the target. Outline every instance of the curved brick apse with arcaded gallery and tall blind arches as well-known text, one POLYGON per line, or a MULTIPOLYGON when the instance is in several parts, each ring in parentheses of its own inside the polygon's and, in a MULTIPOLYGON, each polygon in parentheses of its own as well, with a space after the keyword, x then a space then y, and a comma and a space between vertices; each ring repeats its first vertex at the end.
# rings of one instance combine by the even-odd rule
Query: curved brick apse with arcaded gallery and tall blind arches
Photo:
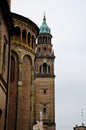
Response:
POLYGON ((8 130, 28 130, 33 122, 32 87, 38 27, 23 16, 12 14, 12 17, 14 33, 11 41, 8 130))

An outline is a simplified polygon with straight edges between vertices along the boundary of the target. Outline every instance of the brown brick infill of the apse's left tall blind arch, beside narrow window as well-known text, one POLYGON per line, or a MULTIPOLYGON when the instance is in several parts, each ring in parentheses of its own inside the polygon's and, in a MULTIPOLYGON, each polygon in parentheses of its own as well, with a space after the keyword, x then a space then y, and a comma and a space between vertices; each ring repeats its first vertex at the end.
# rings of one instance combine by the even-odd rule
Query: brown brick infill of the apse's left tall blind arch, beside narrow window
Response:
MULTIPOLYGON (((14 79, 10 82, 10 93, 9 93, 9 107, 8 107, 8 129, 7 130, 15 130, 16 122, 17 122, 17 101, 18 101, 18 59, 14 55, 15 58, 15 74, 14 79)), ((12 75, 11 75, 12 76, 12 75)))

